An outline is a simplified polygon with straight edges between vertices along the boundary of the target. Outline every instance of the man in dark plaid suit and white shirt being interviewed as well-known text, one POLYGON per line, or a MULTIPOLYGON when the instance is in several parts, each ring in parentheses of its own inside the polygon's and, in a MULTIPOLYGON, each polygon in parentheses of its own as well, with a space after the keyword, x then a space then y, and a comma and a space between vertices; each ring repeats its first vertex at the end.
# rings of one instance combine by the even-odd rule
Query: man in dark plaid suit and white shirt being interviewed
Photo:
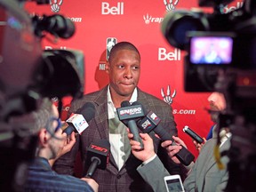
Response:
MULTIPOLYGON (((146 110, 152 110, 163 121, 164 128, 171 135, 177 135, 177 128, 172 116, 172 108, 163 100, 142 92, 137 86, 140 79, 140 52, 128 42, 116 44, 109 54, 106 70, 109 84, 98 92, 84 95, 83 99, 74 100, 68 115, 76 112, 84 103, 92 102, 95 106, 95 116, 89 127, 76 139, 74 148, 66 156, 62 156, 55 164, 57 172, 73 174, 76 153, 81 147, 84 172, 89 164, 84 164, 86 148, 93 141, 108 139, 110 142, 110 158, 106 170, 97 169, 92 178, 99 183, 99 191, 152 191, 150 186, 142 180, 136 168, 141 161, 131 154, 131 146, 127 140, 125 125, 117 118, 116 108, 121 107, 124 100, 130 103, 139 101, 146 110), (112 126, 114 124, 114 126, 112 126)), ((164 148, 160 147, 160 140, 154 133, 154 150, 172 174, 180 173, 180 166, 174 164, 164 148)))

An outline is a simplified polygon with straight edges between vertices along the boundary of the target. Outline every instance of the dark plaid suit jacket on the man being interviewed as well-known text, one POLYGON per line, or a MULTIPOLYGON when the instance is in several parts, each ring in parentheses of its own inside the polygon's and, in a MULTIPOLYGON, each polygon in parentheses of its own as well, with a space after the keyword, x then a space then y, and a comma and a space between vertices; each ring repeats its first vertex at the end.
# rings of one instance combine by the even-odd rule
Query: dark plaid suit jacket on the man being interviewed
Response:
MULTIPOLYGON (((61 156, 60 159, 54 164, 53 168, 56 172, 73 174, 74 164, 76 160, 76 153, 78 149, 81 151, 83 164, 85 161, 86 148, 90 143, 108 139, 108 103, 107 103, 107 91, 108 86, 101 89, 98 92, 92 92, 84 95, 81 100, 74 100, 71 104, 71 108, 68 112, 76 112, 78 108, 81 108, 84 103, 92 102, 96 108, 94 118, 89 123, 89 127, 76 139, 76 144, 72 150, 61 156)), ((172 107, 165 103, 163 100, 159 100, 156 97, 140 91, 138 88, 138 101, 146 108, 146 110, 152 110, 162 119, 162 124, 167 132, 171 135, 177 135, 177 128, 172 116, 172 107)), ((154 140, 155 150, 157 155, 164 163, 166 169, 171 174, 180 174, 180 167, 174 164, 168 157, 164 148, 160 146, 160 140, 155 137, 154 132, 150 132, 151 137, 154 140)), ((136 171, 136 168, 141 162, 134 156, 130 156, 125 162, 123 168, 118 171, 113 156, 110 156, 109 163, 106 170, 97 169, 94 172, 92 178, 96 180, 100 186, 99 191, 152 191, 152 188, 141 178, 140 174, 136 171)), ((87 171, 89 164, 85 164, 84 172, 87 171)))

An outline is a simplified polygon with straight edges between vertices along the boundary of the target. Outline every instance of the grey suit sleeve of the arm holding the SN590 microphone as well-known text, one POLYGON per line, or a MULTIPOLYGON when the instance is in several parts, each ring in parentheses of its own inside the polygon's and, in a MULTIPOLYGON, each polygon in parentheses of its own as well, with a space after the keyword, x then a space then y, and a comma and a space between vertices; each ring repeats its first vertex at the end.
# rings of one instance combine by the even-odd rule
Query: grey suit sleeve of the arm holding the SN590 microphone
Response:
POLYGON ((154 191, 166 191, 164 177, 170 174, 164 168, 164 164, 162 164, 158 156, 148 164, 141 164, 137 171, 154 191))

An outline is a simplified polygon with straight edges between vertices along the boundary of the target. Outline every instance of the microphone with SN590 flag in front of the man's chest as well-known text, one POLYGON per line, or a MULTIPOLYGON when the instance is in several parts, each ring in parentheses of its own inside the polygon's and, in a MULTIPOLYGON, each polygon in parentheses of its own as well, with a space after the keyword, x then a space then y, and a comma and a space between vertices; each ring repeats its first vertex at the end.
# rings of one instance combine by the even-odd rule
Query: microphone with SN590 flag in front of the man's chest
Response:
POLYGON ((129 128, 130 132, 133 134, 133 140, 139 141, 140 148, 143 149, 143 142, 135 122, 135 119, 145 116, 142 106, 136 102, 133 102, 131 106, 128 100, 124 100, 121 103, 121 108, 116 108, 116 110, 119 120, 129 128))

